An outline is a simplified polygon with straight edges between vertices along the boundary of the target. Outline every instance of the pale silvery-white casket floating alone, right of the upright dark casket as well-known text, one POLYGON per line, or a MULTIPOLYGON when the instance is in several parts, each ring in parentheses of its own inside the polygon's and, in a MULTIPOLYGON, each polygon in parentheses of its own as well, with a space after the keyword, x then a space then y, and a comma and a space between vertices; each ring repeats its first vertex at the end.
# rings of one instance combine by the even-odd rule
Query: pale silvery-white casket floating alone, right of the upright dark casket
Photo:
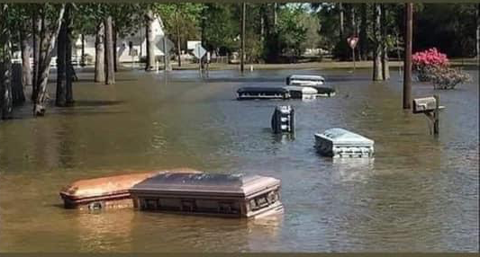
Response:
POLYGON ((315 134, 315 147, 322 155, 332 157, 370 157, 374 141, 343 128, 331 128, 315 134))

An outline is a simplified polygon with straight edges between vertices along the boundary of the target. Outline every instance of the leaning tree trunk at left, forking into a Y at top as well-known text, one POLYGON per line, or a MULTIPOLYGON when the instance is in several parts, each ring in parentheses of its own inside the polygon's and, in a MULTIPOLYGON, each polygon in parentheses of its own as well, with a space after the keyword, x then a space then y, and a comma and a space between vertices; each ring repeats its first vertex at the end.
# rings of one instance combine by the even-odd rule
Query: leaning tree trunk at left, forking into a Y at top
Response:
MULTIPOLYGON (((38 95, 33 106, 33 114, 35 116, 43 116, 45 114, 44 103, 48 99, 47 84, 50 75, 51 51, 55 47, 55 39, 59 35, 63 13, 65 13, 65 4, 61 6, 59 17, 55 21, 52 31, 49 31, 48 26, 45 24, 45 16, 42 17, 41 52, 39 56, 39 76, 37 78, 38 95)), ((45 15, 45 12, 43 12, 43 15, 45 15)))

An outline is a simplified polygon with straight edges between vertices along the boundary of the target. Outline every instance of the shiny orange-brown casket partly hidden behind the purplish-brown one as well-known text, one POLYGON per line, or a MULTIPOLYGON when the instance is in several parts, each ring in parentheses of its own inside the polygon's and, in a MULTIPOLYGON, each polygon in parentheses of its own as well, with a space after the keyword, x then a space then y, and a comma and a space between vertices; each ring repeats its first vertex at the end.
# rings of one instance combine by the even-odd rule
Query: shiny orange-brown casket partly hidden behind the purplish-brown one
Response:
POLYGON ((131 208, 129 190, 139 182, 161 173, 201 173, 189 168, 179 168, 148 173, 131 173, 80 180, 60 191, 65 208, 100 209, 131 208))

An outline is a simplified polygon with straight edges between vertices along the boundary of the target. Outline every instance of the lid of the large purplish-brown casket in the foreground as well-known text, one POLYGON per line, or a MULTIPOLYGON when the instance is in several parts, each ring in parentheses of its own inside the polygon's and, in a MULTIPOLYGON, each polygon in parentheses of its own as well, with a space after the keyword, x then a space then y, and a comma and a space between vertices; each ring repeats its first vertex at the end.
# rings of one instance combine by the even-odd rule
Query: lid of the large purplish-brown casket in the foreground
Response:
POLYGON ((133 192, 158 191, 176 193, 230 193, 249 196, 280 181, 259 175, 222 173, 164 173, 134 185, 133 192))

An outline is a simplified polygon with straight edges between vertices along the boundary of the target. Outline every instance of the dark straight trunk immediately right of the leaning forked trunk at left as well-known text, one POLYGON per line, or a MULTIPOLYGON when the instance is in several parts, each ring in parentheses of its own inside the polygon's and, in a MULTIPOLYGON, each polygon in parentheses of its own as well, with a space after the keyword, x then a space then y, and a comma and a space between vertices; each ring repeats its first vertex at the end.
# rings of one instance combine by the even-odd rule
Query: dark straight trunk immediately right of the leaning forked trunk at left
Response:
POLYGON ((60 107, 65 106, 67 103, 67 90, 65 88, 66 41, 67 23, 62 22, 59 31, 59 40, 57 40, 57 94, 55 95, 55 105, 60 107))

